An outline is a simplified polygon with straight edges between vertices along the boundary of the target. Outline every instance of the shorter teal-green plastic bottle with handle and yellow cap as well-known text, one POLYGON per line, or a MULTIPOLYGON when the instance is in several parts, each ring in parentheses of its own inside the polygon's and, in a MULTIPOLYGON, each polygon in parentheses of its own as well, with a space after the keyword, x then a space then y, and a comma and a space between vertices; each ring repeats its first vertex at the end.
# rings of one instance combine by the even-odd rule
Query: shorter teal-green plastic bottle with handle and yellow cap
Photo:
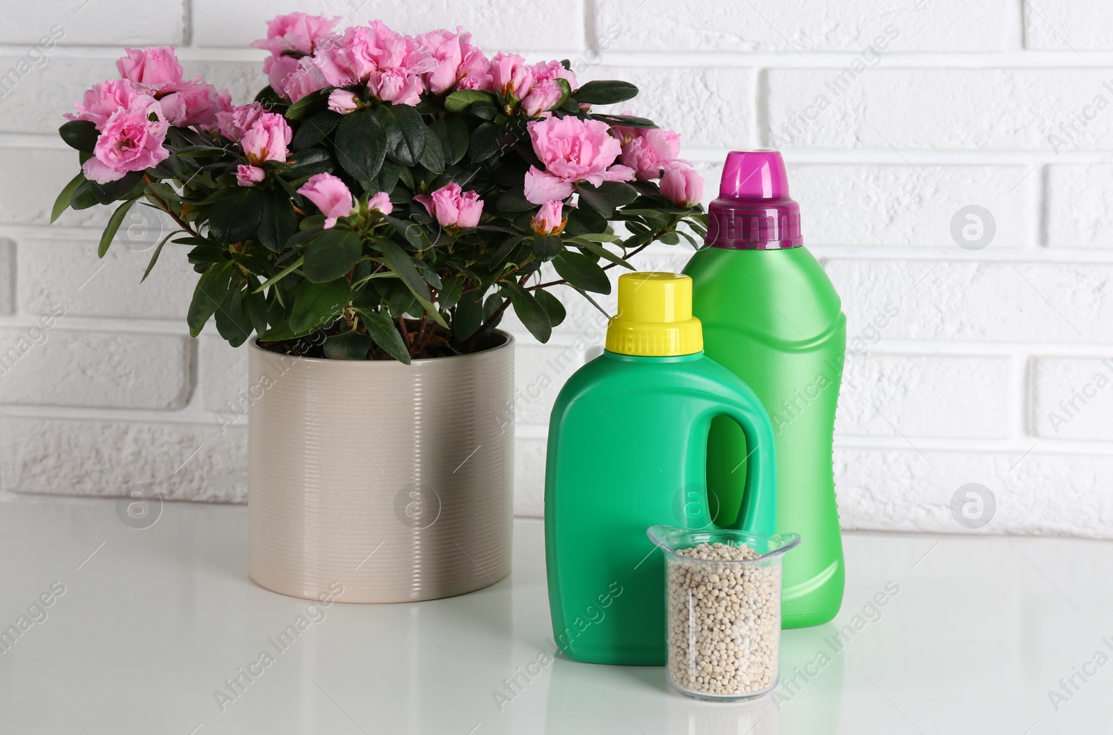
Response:
POLYGON ((666 663, 664 563, 646 529, 711 525, 707 441, 716 417, 757 447, 732 527, 774 530, 769 417, 752 390, 703 355, 691 288, 676 274, 621 276, 607 350, 569 378, 552 410, 549 607, 554 643, 575 660, 666 663))

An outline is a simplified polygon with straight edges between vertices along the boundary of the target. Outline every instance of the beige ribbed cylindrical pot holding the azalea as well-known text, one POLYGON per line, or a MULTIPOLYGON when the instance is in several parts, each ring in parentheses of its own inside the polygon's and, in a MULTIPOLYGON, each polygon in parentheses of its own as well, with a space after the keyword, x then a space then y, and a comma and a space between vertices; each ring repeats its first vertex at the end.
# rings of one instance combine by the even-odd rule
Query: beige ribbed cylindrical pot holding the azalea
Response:
POLYGON ((410 366, 253 342, 252 579, 307 599, 401 603, 506 576, 514 362, 513 338, 498 337, 410 366))

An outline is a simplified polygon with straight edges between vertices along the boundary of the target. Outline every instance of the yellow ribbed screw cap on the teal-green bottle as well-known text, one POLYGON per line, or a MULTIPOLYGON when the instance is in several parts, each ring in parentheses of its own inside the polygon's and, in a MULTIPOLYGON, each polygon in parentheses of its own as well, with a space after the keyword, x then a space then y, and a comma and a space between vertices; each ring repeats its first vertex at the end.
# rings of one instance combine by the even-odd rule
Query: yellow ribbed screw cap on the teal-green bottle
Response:
POLYGON ((667 272, 619 276, 619 312, 607 325, 607 349, 667 357, 703 349, 703 326, 692 316, 692 279, 667 272))

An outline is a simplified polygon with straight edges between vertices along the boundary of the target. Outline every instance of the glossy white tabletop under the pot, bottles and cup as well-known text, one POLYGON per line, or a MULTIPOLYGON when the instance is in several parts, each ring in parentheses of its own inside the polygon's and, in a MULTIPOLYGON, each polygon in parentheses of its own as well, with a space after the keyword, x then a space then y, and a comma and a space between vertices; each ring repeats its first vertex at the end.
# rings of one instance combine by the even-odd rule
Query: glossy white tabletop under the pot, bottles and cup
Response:
POLYGON ((500 711, 503 679, 553 653, 542 525, 519 520, 514 570, 498 586, 334 604, 221 712, 214 692, 306 614, 305 600, 248 579, 246 536, 243 507, 166 504, 139 530, 111 500, 0 506, 0 627, 65 587, 0 654, 0 733, 1113 731, 1113 543, 848 534, 843 612, 782 639, 782 684, 798 667, 812 673, 795 695, 696 702, 670 691, 661 667, 558 657, 500 711), (837 652, 828 642, 887 583, 899 592, 837 652), (1056 711, 1048 692, 1087 669, 1056 711))

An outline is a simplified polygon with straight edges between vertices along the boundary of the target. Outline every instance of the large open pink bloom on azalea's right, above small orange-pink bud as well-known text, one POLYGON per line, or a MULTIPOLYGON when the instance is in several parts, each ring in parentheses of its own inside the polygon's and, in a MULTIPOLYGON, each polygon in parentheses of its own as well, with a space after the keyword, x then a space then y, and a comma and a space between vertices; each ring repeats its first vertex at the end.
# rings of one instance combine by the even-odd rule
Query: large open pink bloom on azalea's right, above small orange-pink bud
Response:
POLYGON ((525 173, 525 198, 535 205, 565 199, 577 181, 599 186, 603 181, 629 181, 633 169, 612 166, 622 146, 601 120, 574 117, 534 120, 528 126, 533 152, 545 170, 531 166, 525 173))

